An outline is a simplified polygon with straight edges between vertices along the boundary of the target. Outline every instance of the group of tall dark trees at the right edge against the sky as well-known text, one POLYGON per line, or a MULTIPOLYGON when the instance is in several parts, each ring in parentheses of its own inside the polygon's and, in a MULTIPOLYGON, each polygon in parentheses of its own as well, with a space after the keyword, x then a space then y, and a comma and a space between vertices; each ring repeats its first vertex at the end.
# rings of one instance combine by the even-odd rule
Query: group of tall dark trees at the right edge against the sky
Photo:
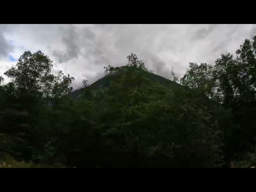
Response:
MULTIPOLYGON (((246 39, 236 51, 221 54, 214 66, 190 63, 181 84, 194 88, 222 104, 226 112, 212 108, 224 131, 224 152, 229 158, 242 158, 255 145, 256 112, 256 36, 246 39), (219 113, 229 116, 227 122, 219 113)), ((232 159, 229 159, 232 160, 232 159)))

